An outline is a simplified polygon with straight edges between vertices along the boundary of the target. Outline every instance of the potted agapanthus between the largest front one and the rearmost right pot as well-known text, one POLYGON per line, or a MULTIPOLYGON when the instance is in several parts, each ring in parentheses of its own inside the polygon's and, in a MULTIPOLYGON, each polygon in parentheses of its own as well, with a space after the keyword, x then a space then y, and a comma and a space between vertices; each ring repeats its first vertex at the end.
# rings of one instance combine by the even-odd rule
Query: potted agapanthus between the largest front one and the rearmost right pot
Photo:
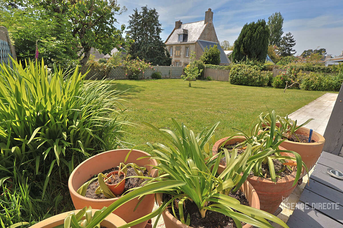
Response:
MULTIPOLYGON (((258 118, 259 120, 269 118, 270 128, 268 129, 275 129, 275 111, 267 115, 261 114, 260 117, 258 118)), ((260 125, 260 123, 254 125, 248 133, 239 131, 235 135, 228 137, 226 141, 243 136, 244 139, 239 139, 241 143, 234 145, 233 148, 244 151, 247 145, 251 145, 250 159, 264 155, 249 164, 247 170, 250 175, 247 177, 247 180, 257 191, 261 210, 274 213, 282 199, 288 197, 295 189, 303 170, 302 166, 304 166, 306 171, 307 166, 297 152, 286 150, 280 146, 285 140, 281 138, 280 133, 270 130, 260 132, 259 134, 260 125)), ((223 142, 223 139, 219 140, 213 146, 213 153, 216 154, 221 150, 227 150, 225 148, 227 145, 226 141, 223 142)))

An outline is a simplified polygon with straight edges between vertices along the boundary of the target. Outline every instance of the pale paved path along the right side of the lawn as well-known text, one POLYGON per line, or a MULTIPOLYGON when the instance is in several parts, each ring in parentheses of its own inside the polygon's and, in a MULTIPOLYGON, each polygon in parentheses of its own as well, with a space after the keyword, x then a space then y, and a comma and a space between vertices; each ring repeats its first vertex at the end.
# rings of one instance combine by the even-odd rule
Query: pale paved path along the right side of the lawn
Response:
POLYGON ((313 129, 315 132, 323 135, 337 96, 338 93, 326 93, 304 107, 289 114, 288 117, 298 120, 298 123, 300 124, 310 118, 314 118, 314 120, 309 122, 305 127, 313 129))

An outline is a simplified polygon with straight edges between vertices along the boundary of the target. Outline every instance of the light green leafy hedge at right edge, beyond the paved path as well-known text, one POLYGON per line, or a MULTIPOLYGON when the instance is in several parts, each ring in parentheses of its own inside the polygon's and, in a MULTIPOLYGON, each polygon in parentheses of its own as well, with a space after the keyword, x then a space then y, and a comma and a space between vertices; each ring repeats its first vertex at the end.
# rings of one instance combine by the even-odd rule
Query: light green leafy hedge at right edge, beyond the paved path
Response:
POLYGON ((339 91, 343 83, 343 74, 326 75, 311 72, 300 79, 301 90, 339 91))

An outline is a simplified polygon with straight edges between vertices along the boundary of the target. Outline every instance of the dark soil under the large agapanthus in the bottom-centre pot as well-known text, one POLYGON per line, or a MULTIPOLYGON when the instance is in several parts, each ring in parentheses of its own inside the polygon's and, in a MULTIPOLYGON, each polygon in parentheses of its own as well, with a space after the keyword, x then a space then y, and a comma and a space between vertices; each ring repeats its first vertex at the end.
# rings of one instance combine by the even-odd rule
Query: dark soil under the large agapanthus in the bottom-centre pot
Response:
MULTIPOLYGON (((249 202, 247 198, 245 198, 244 193, 241 190, 236 191, 234 194, 230 192, 230 197, 233 197, 240 201, 241 204, 249 206, 249 202)), ((167 194, 163 194, 163 201, 164 200, 170 200, 171 196, 167 194)), ((209 203, 212 204, 212 203, 209 203)), ((175 203, 174 203, 175 207, 175 203)), ((168 211, 171 215, 173 214, 173 211, 171 207, 167 207, 168 211)), ((174 208, 177 219, 180 220, 179 216, 179 210, 175 207, 174 208)), ((234 210, 236 211, 236 210, 234 210)), ((236 211, 237 212, 237 211, 236 211)), ((197 205, 194 202, 191 202, 189 200, 185 201, 185 207, 184 207, 184 216, 185 219, 187 217, 187 214, 190 215, 190 227, 194 228, 236 228, 236 224, 233 221, 231 217, 228 217, 226 215, 223 215, 219 212, 214 211, 206 211, 205 218, 202 218, 199 212, 199 209, 197 205)), ((242 226, 245 225, 245 223, 241 222, 242 226)))

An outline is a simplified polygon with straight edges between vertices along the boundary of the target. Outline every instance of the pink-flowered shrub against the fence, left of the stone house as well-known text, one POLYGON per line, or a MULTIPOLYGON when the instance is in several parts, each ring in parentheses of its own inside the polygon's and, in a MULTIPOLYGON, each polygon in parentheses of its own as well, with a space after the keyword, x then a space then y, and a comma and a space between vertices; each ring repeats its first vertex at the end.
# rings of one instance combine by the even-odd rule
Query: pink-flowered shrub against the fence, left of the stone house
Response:
MULTIPOLYGON (((151 68, 151 63, 146 63, 144 59, 140 59, 138 56, 135 59, 131 59, 131 55, 127 55, 126 59, 123 62, 124 69, 126 70, 126 76, 129 79, 137 80, 139 78, 139 74, 143 73, 146 68, 151 68)), ((155 70, 155 69, 154 69, 155 70)))

